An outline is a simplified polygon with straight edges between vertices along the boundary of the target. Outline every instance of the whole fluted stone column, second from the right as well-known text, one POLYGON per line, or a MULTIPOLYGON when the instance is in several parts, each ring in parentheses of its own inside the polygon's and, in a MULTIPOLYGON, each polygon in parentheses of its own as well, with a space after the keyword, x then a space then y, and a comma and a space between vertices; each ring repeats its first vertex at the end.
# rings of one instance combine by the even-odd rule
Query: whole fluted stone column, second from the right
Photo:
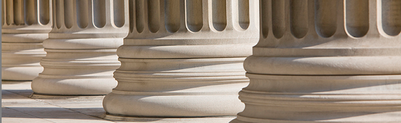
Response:
MULTIPOLYGON (((243 110, 238 92, 249 82, 243 60, 257 42, 258 3, 130 0, 130 32, 117 49, 122 66, 114 72, 117 87, 103 100, 105 118, 172 122, 164 118, 243 110)), ((185 122, 233 118, 211 119, 185 122)))

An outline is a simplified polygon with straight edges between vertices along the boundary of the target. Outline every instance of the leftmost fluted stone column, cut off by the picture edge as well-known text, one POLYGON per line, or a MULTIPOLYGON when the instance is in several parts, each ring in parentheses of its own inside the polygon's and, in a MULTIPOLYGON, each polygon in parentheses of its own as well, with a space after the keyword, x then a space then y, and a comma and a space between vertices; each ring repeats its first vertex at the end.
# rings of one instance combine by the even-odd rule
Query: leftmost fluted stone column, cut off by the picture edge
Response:
POLYGON ((2 0, 2 80, 32 81, 43 67, 51 30, 50 0, 2 0))

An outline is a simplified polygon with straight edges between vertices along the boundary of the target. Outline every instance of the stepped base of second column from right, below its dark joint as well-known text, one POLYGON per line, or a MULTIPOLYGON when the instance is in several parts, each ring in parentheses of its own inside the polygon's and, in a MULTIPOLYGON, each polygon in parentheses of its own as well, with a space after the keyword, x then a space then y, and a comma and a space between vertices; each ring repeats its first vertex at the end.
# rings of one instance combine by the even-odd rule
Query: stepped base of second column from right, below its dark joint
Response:
POLYGON ((238 91, 249 81, 244 76, 243 60, 119 58, 122 66, 114 72, 118 85, 103 99, 108 113, 105 118, 136 121, 138 117, 205 117, 205 121, 199 121, 203 123, 221 123, 211 117, 233 119, 244 107, 238 91))

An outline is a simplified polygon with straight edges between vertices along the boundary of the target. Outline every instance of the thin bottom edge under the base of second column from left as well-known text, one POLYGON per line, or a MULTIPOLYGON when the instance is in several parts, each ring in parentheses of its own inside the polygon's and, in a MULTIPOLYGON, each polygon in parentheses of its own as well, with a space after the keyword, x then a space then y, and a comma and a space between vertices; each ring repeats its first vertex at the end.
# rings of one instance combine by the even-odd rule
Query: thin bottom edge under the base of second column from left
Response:
POLYGON ((32 99, 103 99, 105 95, 47 95, 41 93, 32 93, 29 98, 32 99))

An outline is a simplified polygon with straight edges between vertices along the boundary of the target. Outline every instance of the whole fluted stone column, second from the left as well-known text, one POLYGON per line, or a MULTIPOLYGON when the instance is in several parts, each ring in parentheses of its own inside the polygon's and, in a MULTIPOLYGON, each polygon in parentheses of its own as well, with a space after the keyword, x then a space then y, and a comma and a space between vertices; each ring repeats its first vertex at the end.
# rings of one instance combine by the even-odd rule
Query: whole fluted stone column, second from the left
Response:
POLYGON ((128 34, 128 0, 53 0, 38 95, 105 95, 117 85, 116 50, 128 34))

